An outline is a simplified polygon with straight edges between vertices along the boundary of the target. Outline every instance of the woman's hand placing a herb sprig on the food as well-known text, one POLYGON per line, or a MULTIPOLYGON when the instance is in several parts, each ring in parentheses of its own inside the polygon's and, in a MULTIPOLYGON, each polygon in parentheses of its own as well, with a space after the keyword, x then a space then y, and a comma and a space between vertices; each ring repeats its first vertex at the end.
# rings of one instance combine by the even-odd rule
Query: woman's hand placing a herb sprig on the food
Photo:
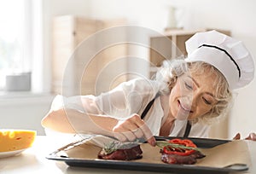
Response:
POLYGON ((113 127, 113 136, 119 141, 135 141, 137 138, 145 138, 147 142, 155 146, 155 138, 139 115, 133 114, 129 119, 120 120, 113 127))

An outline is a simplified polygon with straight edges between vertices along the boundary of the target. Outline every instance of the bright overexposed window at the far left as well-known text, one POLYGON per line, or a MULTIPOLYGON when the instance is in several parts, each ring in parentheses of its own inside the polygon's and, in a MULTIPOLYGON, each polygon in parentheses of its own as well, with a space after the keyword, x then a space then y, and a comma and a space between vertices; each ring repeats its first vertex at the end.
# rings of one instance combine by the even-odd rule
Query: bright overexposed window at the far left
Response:
MULTIPOLYGON (((37 59, 43 59, 42 56, 40 58, 35 56, 35 53, 39 54, 43 50, 40 44, 42 43, 40 38, 42 10, 40 8, 41 0, 0 1, 0 91, 2 92, 13 90, 7 89, 7 77, 10 75, 26 74, 32 82, 30 74, 37 74, 37 59), (35 42, 37 44, 34 44, 35 42)), ((16 79, 18 78, 14 78, 16 79)), ((15 81, 15 84, 17 83, 19 81, 15 81)), ((35 83, 33 81, 29 87, 35 83)), ((15 84, 12 86, 15 90, 24 90, 23 87, 19 89, 15 84)))

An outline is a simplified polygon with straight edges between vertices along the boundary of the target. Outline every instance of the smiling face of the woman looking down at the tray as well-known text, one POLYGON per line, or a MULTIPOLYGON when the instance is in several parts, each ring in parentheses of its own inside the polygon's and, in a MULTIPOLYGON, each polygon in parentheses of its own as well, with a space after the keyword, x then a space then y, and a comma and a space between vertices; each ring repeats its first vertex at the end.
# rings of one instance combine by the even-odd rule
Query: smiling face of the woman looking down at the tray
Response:
POLYGON ((176 119, 196 119, 209 112, 215 99, 214 73, 185 73, 177 78, 169 97, 170 113, 176 119))

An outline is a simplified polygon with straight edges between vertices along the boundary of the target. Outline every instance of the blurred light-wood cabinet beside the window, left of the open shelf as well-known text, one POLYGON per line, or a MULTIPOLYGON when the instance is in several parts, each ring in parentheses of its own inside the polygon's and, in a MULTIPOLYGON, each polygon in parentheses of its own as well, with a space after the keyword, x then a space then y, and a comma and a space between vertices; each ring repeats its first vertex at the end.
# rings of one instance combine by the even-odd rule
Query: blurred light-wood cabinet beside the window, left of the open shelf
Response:
MULTIPOLYGON (((96 90, 106 90, 109 85, 118 84, 109 84, 106 81, 105 84, 100 83, 104 84, 105 88, 102 85, 97 88, 96 79, 109 62, 126 55, 126 45, 116 44, 99 48, 108 37, 99 38, 97 34, 104 29, 120 25, 125 25, 124 19, 94 20, 74 15, 54 18, 51 67, 51 86, 54 94, 95 95, 96 90)), ((122 66, 126 68, 125 64, 122 66)), ((124 81, 125 77, 116 80, 124 81)))

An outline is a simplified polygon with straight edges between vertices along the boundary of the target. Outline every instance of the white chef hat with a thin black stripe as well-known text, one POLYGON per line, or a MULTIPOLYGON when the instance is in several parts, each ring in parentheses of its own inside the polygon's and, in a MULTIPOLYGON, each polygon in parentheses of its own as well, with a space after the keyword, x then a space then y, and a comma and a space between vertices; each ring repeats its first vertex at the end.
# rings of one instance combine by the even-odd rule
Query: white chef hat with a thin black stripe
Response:
POLYGON ((216 67, 223 73, 231 90, 253 80, 253 57, 241 41, 212 30, 196 33, 185 44, 188 52, 185 60, 204 61, 216 67))

